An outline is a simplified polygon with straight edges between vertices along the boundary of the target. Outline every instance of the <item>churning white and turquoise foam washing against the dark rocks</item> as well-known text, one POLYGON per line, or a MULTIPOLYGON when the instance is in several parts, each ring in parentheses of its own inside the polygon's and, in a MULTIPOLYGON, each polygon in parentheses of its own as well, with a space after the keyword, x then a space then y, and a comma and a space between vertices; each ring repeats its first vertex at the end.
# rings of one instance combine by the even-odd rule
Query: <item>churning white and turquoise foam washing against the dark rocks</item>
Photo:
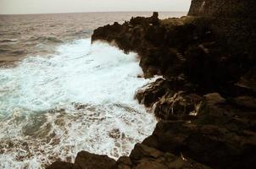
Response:
POLYGON ((134 100, 153 80, 136 78, 136 53, 90 39, 56 50, 0 69, 0 168, 74 161, 81 150, 118 158, 153 132, 153 115, 134 100))

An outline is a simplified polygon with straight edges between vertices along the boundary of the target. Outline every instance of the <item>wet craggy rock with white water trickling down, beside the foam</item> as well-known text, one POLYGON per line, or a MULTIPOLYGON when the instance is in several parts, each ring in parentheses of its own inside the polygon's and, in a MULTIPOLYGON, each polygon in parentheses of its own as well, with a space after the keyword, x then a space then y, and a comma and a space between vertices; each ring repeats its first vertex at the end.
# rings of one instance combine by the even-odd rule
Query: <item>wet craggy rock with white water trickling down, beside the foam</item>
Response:
POLYGON ((161 119, 189 119, 198 115, 204 102, 202 96, 190 92, 191 88, 183 79, 157 79, 138 90, 136 99, 145 106, 155 104, 154 113, 161 119))

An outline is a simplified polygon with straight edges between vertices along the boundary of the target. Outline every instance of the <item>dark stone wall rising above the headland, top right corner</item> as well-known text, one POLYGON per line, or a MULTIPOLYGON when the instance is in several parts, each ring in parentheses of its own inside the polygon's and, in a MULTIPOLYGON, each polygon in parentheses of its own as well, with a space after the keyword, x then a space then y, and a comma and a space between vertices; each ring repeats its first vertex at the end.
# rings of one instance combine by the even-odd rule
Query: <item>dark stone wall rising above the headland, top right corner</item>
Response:
POLYGON ((192 0, 188 15, 214 19, 218 38, 222 36, 225 39, 232 55, 239 52, 245 59, 253 57, 256 50, 253 47, 256 43, 255 8, 253 0, 192 0))

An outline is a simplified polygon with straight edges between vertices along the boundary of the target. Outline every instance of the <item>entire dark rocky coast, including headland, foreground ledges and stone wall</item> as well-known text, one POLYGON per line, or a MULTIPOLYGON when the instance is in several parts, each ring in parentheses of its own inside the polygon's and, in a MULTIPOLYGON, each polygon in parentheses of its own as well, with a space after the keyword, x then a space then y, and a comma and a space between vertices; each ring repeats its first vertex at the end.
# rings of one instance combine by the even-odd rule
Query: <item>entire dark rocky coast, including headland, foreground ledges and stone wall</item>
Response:
POLYGON ((75 163, 47 168, 255 168, 255 7, 255 0, 192 0, 180 19, 153 13, 94 30, 92 42, 137 52, 144 78, 163 77, 136 91, 159 123, 118 161, 81 151, 75 163))

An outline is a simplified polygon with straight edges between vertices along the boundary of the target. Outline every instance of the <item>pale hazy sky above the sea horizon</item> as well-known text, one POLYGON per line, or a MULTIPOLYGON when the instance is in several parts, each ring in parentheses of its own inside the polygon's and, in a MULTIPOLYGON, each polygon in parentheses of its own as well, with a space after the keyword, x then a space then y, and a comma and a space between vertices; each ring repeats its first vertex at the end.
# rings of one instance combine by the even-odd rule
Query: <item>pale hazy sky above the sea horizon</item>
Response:
POLYGON ((0 14, 187 11, 191 0, 0 0, 0 14))

